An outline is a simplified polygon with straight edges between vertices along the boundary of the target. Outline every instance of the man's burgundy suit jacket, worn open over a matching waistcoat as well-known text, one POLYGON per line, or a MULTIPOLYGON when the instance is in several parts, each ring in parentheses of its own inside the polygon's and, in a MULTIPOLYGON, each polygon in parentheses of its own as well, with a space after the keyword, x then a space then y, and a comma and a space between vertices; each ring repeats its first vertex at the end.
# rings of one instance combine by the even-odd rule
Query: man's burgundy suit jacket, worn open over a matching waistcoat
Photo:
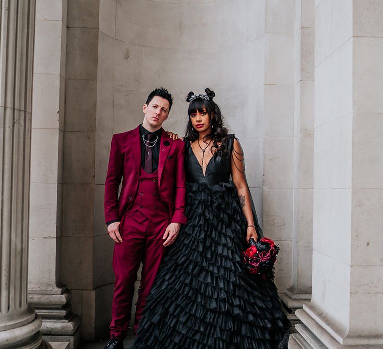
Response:
MULTIPOLYGON (((161 200, 168 204, 171 222, 186 223, 185 216, 185 145, 172 140, 162 130, 158 159, 158 185, 161 200)), ((105 180, 105 222, 121 220, 136 195, 141 168, 139 127, 113 135, 108 173, 105 180), (120 196, 118 189, 122 186, 120 196)))

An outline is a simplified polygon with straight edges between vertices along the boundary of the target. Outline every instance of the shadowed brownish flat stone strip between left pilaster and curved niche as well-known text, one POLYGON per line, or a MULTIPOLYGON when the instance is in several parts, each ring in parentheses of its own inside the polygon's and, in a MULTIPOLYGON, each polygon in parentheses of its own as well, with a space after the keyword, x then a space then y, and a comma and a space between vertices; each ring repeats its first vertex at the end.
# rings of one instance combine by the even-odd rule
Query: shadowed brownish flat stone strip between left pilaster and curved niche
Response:
POLYGON ((61 280, 72 292, 84 339, 95 339, 105 327, 94 282, 102 258, 95 252, 100 241, 93 220, 98 13, 98 0, 68 0, 61 280))

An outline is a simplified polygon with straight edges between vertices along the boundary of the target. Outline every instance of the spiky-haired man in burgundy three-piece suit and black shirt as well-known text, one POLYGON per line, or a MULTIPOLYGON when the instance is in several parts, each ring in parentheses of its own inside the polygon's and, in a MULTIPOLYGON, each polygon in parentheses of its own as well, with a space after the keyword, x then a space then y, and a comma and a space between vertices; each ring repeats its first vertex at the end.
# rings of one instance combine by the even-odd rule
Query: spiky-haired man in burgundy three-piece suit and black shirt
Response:
POLYGON ((108 234, 115 241, 108 349, 123 348, 140 263, 135 331, 165 249, 186 223, 184 143, 169 138, 161 127, 172 102, 168 90, 155 89, 142 108, 143 123, 112 137, 104 200, 108 234))

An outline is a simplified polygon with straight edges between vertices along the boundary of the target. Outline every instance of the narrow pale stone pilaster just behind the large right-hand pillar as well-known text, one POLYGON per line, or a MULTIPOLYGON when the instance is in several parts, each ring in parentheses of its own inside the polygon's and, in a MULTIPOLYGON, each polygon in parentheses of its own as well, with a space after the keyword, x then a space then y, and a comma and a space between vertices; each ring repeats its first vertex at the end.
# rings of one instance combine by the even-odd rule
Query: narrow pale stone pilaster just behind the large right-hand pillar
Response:
POLYGON ((293 241, 290 286, 281 295, 289 318, 311 299, 314 151, 314 0, 296 0, 293 241))

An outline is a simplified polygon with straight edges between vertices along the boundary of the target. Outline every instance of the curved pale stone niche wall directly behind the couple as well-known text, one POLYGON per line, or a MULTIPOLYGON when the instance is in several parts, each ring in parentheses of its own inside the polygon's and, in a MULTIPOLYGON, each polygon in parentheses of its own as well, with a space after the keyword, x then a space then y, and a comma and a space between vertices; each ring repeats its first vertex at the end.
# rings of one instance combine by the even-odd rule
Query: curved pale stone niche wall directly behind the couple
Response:
POLYGON ((94 231, 105 243, 97 250, 102 257, 96 284, 113 283, 105 263, 113 242, 103 220, 111 136, 142 122, 142 106, 155 87, 174 95, 164 128, 179 135, 187 122, 188 92, 216 92, 230 132, 243 145, 262 222, 264 18, 264 1, 100 1, 94 231))

